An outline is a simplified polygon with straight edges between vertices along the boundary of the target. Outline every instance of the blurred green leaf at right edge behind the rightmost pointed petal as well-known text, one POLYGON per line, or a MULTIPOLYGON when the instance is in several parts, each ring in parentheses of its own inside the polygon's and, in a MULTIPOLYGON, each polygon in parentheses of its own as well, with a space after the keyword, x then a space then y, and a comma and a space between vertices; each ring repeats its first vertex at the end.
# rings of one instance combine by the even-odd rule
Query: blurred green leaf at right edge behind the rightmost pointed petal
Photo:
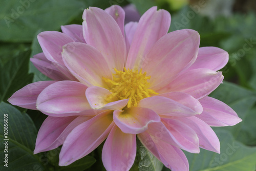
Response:
POLYGON ((233 83, 224 82, 213 93, 212 97, 219 99, 229 105, 238 116, 243 119, 237 125, 226 127, 214 127, 214 130, 228 130, 234 138, 247 145, 251 145, 248 140, 256 141, 255 133, 253 134, 248 127, 254 127, 253 122, 249 118, 255 118, 255 113, 251 111, 256 101, 256 93, 246 90, 233 83), (253 134, 253 136, 252 136, 253 134))

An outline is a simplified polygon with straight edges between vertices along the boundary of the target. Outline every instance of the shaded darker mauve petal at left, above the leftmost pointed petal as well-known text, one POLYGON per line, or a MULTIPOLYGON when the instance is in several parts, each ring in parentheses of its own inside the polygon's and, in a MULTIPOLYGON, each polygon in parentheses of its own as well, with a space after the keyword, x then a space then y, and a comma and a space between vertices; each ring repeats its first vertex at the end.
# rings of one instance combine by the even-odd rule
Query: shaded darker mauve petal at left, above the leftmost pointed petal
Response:
POLYGON ((66 67, 61 66, 58 63, 51 62, 45 57, 44 53, 38 53, 34 55, 33 58, 30 58, 30 61, 42 74, 53 80, 77 81, 77 79, 69 72, 66 67))

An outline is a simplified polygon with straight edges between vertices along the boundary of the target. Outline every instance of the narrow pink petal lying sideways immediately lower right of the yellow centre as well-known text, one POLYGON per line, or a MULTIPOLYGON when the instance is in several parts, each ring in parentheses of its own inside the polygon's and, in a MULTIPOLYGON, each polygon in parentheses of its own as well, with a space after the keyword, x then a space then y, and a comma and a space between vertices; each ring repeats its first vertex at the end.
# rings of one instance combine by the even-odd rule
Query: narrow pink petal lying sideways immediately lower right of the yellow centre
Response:
POLYGON ((158 115, 190 117, 200 114, 177 101, 161 96, 144 98, 139 101, 138 106, 151 109, 158 115))

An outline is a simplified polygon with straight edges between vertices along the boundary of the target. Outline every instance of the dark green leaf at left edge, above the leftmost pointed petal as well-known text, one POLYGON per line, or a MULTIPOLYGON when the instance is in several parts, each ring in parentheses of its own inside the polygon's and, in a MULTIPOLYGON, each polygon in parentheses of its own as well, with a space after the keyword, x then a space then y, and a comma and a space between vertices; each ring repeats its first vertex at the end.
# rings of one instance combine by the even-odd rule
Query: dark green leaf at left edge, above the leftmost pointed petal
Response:
POLYGON ((30 51, 20 52, 0 67, 0 101, 7 101, 14 92, 32 82, 33 74, 28 74, 29 55, 30 51))

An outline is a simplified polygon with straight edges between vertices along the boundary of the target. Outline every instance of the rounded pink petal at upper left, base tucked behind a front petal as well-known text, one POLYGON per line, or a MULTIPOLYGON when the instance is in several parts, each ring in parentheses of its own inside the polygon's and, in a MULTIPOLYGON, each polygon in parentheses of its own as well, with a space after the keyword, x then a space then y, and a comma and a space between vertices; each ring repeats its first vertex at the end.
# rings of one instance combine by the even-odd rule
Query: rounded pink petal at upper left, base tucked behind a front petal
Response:
POLYGON ((48 60, 64 65, 61 57, 62 46, 74 42, 70 36, 57 31, 44 31, 37 35, 37 39, 48 60))

